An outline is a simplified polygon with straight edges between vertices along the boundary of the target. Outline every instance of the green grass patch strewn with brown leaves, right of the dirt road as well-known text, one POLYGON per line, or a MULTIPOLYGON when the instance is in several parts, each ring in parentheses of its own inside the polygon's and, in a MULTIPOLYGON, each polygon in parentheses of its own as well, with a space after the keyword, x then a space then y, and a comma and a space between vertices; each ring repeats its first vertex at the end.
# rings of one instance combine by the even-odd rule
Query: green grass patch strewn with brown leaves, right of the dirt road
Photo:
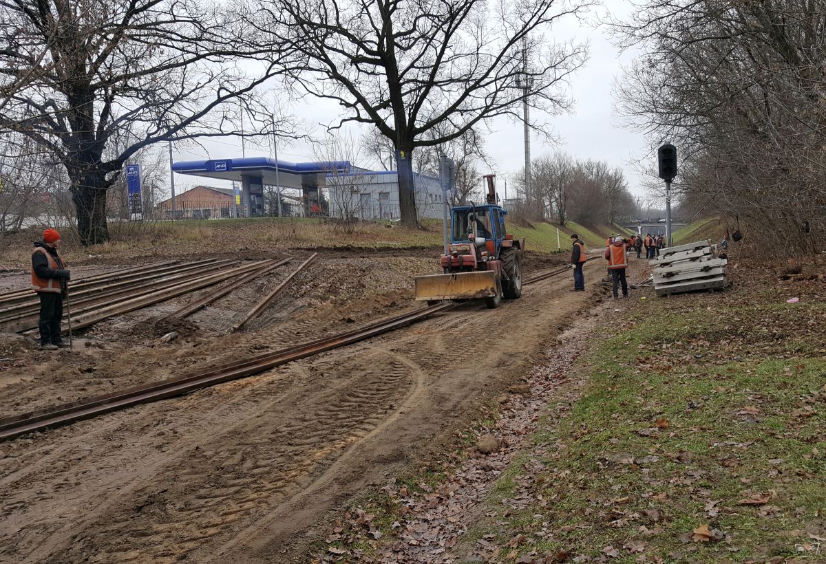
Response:
POLYGON ((614 336, 583 395, 532 438, 554 445, 543 470, 525 481, 518 457, 490 497, 496 524, 473 534, 496 535, 506 562, 518 534, 517 557, 824 562, 826 305, 743 292, 649 299, 597 331, 614 336))

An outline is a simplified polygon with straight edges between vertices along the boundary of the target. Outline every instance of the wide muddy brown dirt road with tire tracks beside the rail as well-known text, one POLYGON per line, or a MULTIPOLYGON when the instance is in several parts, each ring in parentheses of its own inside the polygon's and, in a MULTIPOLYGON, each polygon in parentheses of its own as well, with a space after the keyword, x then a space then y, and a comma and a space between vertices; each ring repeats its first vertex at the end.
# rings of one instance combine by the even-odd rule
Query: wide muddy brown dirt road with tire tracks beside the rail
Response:
MULTIPOLYGON (((591 305, 605 274, 594 263, 586 292, 569 291, 566 273, 498 310, 457 306, 256 377, 0 443, 0 562, 303 562, 330 509, 415 462, 591 305)), ((305 315, 222 341, 237 347, 221 354, 276 333, 298 342, 298 329, 320 330, 305 315)), ((338 315, 328 327, 354 322, 338 315)), ((147 371, 141 358, 108 369, 154 377, 165 366, 147 371)))

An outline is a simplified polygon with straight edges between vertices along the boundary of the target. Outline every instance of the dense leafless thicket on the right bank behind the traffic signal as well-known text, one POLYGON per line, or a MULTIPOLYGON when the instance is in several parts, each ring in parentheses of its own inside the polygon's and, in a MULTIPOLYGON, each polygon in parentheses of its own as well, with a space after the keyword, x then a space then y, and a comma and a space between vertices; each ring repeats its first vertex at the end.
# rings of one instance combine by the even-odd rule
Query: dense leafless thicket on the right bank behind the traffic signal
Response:
POLYGON ((620 107, 652 149, 680 148, 681 200, 771 230, 784 254, 822 245, 826 2, 647 0, 616 29, 641 52, 620 107))

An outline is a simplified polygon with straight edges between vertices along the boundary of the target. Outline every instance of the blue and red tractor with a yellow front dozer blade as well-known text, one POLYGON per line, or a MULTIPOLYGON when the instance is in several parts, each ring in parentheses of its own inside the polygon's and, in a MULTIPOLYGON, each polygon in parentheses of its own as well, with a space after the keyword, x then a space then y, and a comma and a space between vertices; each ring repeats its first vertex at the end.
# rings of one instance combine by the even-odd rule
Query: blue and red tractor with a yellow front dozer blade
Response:
POLYGON ((493 175, 485 178, 484 205, 451 208, 448 254, 439 258, 444 274, 415 277, 416 301, 484 299, 487 307, 495 308, 502 298, 522 295, 520 262, 525 239, 506 233, 507 211, 496 204, 493 175))

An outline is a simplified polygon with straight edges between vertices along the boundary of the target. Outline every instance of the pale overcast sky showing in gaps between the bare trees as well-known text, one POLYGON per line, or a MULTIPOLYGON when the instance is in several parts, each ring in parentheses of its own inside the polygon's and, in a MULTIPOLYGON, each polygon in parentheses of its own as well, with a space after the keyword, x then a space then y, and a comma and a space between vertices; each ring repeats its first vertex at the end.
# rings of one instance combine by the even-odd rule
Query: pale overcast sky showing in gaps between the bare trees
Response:
MULTIPOLYGON (((626 0, 604 0, 600 14, 609 10, 616 16, 624 16, 630 10, 626 0)), ((594 14, 596 16, 596 13, 594 14)), ((611 44, 609 31, 604 27, 586 25, 576 19, 569 19, 554 28, 553 36, 566 40, 576 39, 590 43, 590 56, 586 65, 577 71, 571 79, 571 93, 576 104, 570 115, 555 116, 550 119, 559 145, 548 145, 536 135, 532 135, 531 154, 541 154, 562 150, 581 159, 600 159, 623 169, 628 179, 629 188, 634 195, 642 195, 640 178, 632 161, 645 154, 643 136, 620 126, 619 116, 615 114, 614 99, 611 96, 611 84, 619 78, 621 66, 627 65, 634 58, 633 52, 622 55, 611 44)), ((334 122, 338 107, 330 102, 308 99, 295 107, 294 111, 307 123, 324 124, 334 122)), ((524 134, 521 122, 499 120, 491 125, 493 133, 487 135, 487 152, 495 161, 495 170, 500 178, 509 178, 525 164, 524 134)), ((225 137, 221 140, 207 140, 201 147, 173 149, 173 159, 226 159, 241 156, 241 143, 237 137, 225 137)), ((271 145, 256 147, 247 142, 246 155, 272 156, 271 145)), ((281 160, 314 160, 311 146, 293 141, 288 145, 279 143, 278 158, 281 160)), ((354 163, 363 164, 363 163, 354 163)), ((176 192, 183 192, 198 183, 210 183, 225 186, 228 183, 197 177, 175 175, 176 192)), ((500 184, 500 189, 502 185, 500 184)), ((510 192, 510 190, 509 190, 510 192)), ((504 194, 502 194, 504 196, 504 194)), ((509 194, 510 195, 510 194, 509 194)))

